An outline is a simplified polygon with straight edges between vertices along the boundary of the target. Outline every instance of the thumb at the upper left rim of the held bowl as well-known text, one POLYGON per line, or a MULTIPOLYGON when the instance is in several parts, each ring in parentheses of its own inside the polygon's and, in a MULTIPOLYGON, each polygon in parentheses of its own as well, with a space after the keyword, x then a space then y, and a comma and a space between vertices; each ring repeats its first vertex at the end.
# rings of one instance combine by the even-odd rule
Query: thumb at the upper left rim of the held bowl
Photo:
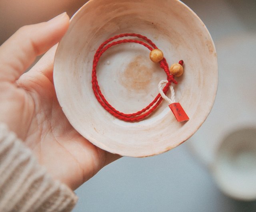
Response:
POLYGON ((23 26, 0 46, 0 80, 14 82, 43 54, 60 41, 69 25, 66 13, 48 22, 23 26))

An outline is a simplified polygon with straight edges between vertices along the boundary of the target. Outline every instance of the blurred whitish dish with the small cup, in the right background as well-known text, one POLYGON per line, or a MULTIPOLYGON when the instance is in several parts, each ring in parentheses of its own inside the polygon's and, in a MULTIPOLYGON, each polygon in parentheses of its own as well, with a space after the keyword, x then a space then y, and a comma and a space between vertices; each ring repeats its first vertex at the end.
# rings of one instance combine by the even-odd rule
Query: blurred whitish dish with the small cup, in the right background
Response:
POLYGON ((216 48, 216 102, 190 146, 224 193, 256 200, 256 34, 228 36, 216 48))

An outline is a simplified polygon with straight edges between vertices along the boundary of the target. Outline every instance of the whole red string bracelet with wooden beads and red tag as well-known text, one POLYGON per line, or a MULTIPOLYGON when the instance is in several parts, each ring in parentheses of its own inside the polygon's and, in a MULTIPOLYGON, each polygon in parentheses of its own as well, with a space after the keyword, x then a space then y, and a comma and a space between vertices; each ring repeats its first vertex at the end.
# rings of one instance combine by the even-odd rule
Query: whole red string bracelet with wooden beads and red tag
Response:
MULTIPOLYGON (((180 75, 180 66, 182 67, 183 60, 179 61, 178 66, 177 66, 177 64, 175 67, 172 67, 173 65, 171 66, 172 74, 170 74, 168 63, 167 63, 166 59, 164 58, 163 54, 162 54, 162 57, 160 57, 160 59, 159 59, 158 58, 159 52, 156 52, 155 50, 160 51, 160 50, 158 50, 157 46, 146 36, 142 36, 140 34, 134 34, 134 33, 126 33, 126 34, 119 34, 112 38, 109 38, 108 40, 103 42, 99 46, 98 50, 96 51, 96 53, 94 55, 93 66, 92 66, 92 89, 93 89, 93 92, 94 92, 98 102, 102 105, 102 107, 105 110, 107 110, 110 114, 115 116, 116 118, 119 118, 120 120, 124 120, 126 122, 138 122, 140 120, 143 120, 144 118, 149 116, 158 107, 158 105, 162 102, 163 97, 165 96, 166 92, 169 90, 171 83, 177 84, 176 80, 174 80, 174 75, 175 76, 180 75), (142 40, 135 40, 135 39, 123 39, 123 40, 113 41, 113 40, 116 40, 117 38, 123 38, 123 37, 137 37, 137 38, 140 38, 140 39, 146 41, 148 44, 142 40), (103 94, 100 90, 100 86, 98 85, 98 80, 97 80, 97 76, 96 76, 97 64, 98 64, 102 54, 106 50, 108 50, 108 48, 115 46, 117 44, 122 44, 122 43, 137 43, 137 44, 141 44, 141 45, 145 46, 146 48, 148 48, 151 51, 150 57, 151 56, 153 57, 153 58, 151 58, 151 60, 154 61, 154 59, 156 59, 156 61, 154 61, 154 62, 159 62, 160 67, 164 70, 164 72, 167 75, 166 85, 161 90, 161 92, 156 96, 156 98, 154 98, 154 100, 148 106, 146 106, 142 110, 132 113, 132 114, 122 113, 122 112, 116 110, 113 106, 111 106, 109 104, 109 102, 106 100, 106 98, 103 96, 103 94), (156 54, 154 54, 154 53, 156 53, 156 54), (176 73, 177 70, 178 70, 178 74, 176 73)), ((183 73, 183 68, 182 68, 182 73, 183 73)), ((174 93, 174 91, 173 91, 173 93, 174 93)), ((173 102, 172 104, 169 105, 169 107, 171 108, 172 112, 174 113, 174 115, 178 121, 184 121, 184 120, 189 119, 179 103, 173 102)))

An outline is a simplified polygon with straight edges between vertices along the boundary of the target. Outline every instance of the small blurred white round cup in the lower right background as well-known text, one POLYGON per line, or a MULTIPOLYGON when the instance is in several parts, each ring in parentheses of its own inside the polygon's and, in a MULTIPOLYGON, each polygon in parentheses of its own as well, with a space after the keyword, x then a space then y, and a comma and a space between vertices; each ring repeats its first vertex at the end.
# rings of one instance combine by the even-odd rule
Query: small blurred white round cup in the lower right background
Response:
POLYGON ((256 128, 229 134, 219 146, 212 172, 227 195, 240 200, 255 200, 256 128))

